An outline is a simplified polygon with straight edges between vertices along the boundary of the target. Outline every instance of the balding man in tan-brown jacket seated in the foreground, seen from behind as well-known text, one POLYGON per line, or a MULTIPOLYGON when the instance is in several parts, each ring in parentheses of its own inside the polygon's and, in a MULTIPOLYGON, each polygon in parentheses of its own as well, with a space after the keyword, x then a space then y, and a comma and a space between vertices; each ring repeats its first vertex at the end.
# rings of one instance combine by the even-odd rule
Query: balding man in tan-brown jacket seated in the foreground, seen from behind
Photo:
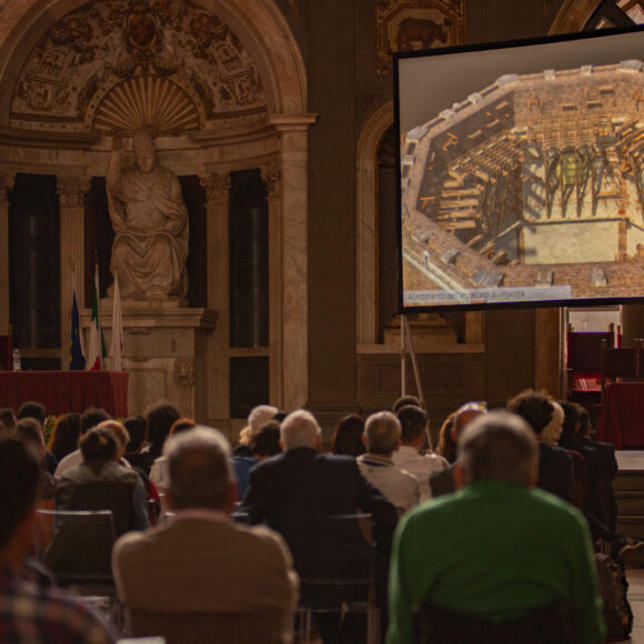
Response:
POLYGON ((165 454, 173 520, 113 552, 132 635, 184 642, 290 642, 298 578, 282 539, 230 521, 230 445, 217 430, 173 436, 165 454))

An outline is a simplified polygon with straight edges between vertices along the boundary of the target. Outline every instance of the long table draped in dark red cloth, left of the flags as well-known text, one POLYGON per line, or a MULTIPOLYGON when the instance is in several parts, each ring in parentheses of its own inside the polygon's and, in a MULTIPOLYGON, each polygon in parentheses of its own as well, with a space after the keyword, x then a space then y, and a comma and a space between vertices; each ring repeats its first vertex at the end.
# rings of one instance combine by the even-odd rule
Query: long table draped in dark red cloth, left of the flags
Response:
POLYGON ((103 407, 114 417, 125 417, 128 372, 0 371, 0 407, 18 410, 27 401, 42 403, 48 414, 103 407))

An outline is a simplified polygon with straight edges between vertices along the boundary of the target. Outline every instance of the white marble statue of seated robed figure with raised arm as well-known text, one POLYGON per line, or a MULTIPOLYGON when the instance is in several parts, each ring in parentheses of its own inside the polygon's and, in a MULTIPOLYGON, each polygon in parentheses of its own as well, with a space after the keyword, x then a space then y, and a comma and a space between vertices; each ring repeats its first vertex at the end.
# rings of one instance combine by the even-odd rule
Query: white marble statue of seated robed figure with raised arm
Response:
POLYGON ((134 131, 132 152, 134 164, 122 168, 123 139, 114 137, 105 177, 115 233, 110 270, 123 300, 181 300, 188 293, 189 234, 181 185, 159 164, 149 129, 134 131))

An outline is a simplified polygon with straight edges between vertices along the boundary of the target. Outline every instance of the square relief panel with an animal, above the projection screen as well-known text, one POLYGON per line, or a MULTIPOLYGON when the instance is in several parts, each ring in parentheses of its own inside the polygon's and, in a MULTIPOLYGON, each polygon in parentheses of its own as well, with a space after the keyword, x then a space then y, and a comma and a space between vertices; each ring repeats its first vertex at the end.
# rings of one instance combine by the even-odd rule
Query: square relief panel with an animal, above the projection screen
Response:
POLYGON ((376 0, 378 73, 391 72, 391 52, 461 44, 464 0, 376 0))

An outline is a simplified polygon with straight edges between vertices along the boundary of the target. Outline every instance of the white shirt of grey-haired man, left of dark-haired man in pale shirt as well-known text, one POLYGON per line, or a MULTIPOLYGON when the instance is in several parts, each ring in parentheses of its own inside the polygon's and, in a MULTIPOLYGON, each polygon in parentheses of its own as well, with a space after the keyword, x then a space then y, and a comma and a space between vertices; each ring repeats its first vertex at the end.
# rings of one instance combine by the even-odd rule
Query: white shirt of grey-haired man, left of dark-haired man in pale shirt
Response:
POLYGON ((399 514, 420 502, 419 480, 406 470, 396 467, 390 459, 362 454, 356 462, 362 475, 386 496, 399 514))

